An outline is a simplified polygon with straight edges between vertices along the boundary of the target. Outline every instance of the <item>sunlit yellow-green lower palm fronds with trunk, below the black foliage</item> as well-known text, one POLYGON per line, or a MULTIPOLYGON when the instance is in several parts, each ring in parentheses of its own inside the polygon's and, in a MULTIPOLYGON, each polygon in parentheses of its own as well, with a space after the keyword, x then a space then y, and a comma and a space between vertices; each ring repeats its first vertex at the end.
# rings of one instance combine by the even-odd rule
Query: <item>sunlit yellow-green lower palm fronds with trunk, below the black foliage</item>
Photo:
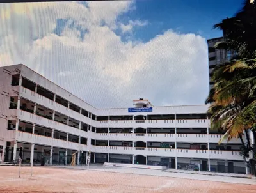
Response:
MULTIPOLYGON (((243 144, 241 153, 246 158, 255 148, 250 144, 248 130, 252 130, 256 139, 256 59, 241 59, 219 66, 214 69, 212 81, 215 84, 206 100, 206 103, 213 102, 208 110, 211 128, 225 130, 219 143, 239 137, 243 144), (242 137, 244 133, 247 146, 242 137)), ((256 174, 254 160, 250 160, 250 166, 252 174, 256 174)))

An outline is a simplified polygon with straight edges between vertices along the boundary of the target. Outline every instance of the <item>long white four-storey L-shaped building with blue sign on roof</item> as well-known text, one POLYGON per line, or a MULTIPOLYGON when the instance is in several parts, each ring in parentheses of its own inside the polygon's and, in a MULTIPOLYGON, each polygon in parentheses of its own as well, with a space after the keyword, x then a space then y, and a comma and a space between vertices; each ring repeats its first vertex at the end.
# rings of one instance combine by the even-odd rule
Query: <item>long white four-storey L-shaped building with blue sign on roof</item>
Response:
POLYGON ((122 162, 204 171, 245 173, 239 140, 218 144, 209 130, 208 105, 97 109, 24 65, 0 68, 0 155, 2 162, 48 164, 122 162))

